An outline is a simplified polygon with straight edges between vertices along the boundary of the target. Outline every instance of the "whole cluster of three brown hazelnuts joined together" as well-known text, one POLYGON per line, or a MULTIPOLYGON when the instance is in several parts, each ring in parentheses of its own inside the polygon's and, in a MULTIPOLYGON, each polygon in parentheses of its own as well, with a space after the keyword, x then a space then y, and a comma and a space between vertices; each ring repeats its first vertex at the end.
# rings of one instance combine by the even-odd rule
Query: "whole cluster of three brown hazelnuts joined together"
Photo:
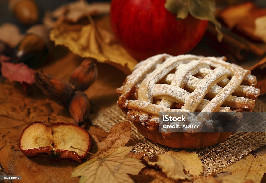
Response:
POLYGON ((85 59, 71 74, 69 82, 41 72, 35 73, 35 83, 48 98, 68 107, 79 126, 85 126, 90 102, 83 92, 98 76, 95 59, 85 59))

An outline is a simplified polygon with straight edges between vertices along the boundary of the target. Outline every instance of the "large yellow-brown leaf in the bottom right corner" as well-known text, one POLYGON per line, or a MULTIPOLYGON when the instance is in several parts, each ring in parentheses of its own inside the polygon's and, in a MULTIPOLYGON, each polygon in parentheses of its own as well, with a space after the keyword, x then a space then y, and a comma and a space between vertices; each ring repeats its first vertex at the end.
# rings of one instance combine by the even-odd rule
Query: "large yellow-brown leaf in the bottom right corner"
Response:
POLYGON ((242 183, 242 182, 260 182, 264 173, 266 173, 266 154, 252 155, 236 161, 234 164, 220 170, 215 179, 223 183, 242 183), (230 172, 231 175, 219 176, 219 173, 230 172))

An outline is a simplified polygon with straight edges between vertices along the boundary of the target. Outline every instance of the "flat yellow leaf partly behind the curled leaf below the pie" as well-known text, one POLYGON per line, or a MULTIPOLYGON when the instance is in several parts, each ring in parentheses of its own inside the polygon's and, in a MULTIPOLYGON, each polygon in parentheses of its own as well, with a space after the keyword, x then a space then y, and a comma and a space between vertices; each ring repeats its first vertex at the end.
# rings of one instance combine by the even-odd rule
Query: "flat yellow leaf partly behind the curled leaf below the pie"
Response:
POLYGON ((186 172, 188 172, 190 175, 197 176, 201 175, 203 172, 202 161, 196 152, 186 152, 185 150, 182 150, 179 152, 168 151, 165 154, 171 155, 175 159, 180 160, 186 172))

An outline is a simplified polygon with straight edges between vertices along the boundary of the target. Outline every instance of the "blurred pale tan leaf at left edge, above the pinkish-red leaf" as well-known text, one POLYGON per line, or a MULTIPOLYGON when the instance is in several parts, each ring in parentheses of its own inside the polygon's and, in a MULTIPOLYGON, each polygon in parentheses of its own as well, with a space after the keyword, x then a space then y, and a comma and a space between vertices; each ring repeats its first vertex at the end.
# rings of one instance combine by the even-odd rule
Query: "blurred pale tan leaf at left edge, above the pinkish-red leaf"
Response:
POLYGON ((11 23, 3 23, 0 26, 0 41, 5 42, 11 48, 15 48, 23 35, 20 33, 19 28, 11 23))

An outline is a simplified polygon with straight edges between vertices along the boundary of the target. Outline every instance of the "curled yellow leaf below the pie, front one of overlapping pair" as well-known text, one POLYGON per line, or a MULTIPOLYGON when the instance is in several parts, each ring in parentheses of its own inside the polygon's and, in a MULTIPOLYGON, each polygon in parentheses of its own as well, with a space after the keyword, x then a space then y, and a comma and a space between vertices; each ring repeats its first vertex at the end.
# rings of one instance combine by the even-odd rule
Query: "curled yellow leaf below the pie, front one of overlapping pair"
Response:
POLYGON ((155 155, 152 161, 146 156, 144 159, 150 166, 158 166, 162 172, 169 178, 174 180, 191 180, 191 177, 184 173, 184 166, 180 160, 175 159, 173 156, 168 154, 155 155))

